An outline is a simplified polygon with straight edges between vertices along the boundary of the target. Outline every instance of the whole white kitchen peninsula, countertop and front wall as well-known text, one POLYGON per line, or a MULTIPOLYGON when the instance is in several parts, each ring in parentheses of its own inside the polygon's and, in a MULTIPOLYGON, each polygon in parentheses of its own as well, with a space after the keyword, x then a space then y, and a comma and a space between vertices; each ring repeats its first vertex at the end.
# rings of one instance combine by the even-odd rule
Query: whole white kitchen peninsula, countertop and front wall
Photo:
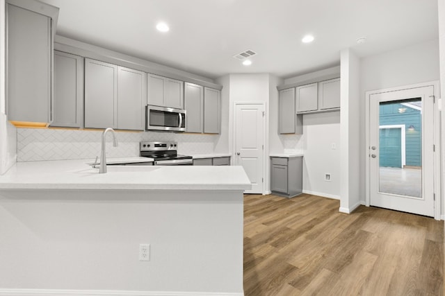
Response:
POLYGON ((243 295, 241 166, 88 162, 0 176, 0 295, 243 295))

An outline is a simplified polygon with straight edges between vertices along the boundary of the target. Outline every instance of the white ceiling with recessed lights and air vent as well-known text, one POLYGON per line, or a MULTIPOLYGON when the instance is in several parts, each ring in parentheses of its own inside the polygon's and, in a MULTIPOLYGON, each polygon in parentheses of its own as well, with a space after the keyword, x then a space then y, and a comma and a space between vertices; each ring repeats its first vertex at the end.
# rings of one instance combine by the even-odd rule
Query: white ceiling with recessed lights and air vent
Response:
POLYGON ((339 64, 348 47, 364 57, 438 37, 437 0, 41 1, 60 8, 58 35, 208 78, 289 78, 339 64), (250 67, 232 58, 247 49, 257 52, 250 67))

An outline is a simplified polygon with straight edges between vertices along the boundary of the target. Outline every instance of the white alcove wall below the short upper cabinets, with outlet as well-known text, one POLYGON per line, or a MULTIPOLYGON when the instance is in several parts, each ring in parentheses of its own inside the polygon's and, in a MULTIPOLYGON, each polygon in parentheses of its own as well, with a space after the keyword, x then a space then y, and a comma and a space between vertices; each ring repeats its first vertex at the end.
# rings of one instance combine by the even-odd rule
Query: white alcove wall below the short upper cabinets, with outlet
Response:
POLYGON ((340 112, 306 114, 303 123, 303 192, 340 199, 340 112))

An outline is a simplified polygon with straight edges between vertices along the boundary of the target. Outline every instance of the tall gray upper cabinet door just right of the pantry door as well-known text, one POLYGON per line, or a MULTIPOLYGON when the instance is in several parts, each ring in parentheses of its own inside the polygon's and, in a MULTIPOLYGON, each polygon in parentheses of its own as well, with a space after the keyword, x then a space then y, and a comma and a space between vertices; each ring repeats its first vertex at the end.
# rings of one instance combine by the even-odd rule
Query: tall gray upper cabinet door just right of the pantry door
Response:
POLYGON ((279 131, 280 134, 296 132, 295 87, 280 91, 279 131))

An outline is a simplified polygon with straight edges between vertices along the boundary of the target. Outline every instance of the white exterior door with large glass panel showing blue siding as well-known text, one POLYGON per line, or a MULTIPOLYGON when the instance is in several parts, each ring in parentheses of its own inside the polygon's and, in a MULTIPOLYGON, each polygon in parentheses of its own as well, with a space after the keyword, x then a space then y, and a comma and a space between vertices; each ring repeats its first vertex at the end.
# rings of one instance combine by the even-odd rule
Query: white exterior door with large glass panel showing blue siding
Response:
POLYGON ((371 94, 370 204, 434 216, 433 87, 371 94))

